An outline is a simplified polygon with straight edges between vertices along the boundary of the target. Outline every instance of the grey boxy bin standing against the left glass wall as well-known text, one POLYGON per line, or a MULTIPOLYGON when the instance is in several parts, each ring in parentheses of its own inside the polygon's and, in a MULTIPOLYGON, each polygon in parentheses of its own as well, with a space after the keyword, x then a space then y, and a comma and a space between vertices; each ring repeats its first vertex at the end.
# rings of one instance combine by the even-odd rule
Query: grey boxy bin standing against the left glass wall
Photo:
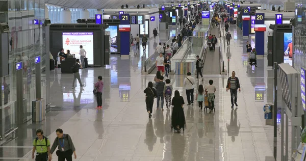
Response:
POLYGON ((44 99, 38 98, 32 101, 32 121, 41 122, 45 117, 44 99))

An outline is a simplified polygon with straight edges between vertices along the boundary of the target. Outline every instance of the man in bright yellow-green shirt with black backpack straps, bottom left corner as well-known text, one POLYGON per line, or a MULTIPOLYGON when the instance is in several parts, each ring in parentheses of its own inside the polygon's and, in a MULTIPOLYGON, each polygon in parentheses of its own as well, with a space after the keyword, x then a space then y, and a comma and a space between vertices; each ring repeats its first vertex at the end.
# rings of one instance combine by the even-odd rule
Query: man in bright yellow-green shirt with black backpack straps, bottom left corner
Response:
POLYGON ((50 153, 50 141, 48 138, 43 136, 42 129, 36 130, 37 138, 33 141, 32 159, 34 159, 34 152, 36 150, 35 161, 47 161, 48 156, 51 157, 50 153))

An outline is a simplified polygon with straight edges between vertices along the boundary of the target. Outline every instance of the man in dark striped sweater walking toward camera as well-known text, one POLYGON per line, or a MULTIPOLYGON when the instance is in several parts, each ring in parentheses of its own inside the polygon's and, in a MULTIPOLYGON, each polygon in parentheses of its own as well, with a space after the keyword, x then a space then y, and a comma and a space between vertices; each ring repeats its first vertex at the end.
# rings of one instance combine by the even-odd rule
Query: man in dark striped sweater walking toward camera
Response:
POLYGON ((235 75, 236 75, 236 72, 233 71, 232 76, 228 77, 227 84, 226 84, 226 92, 228 90, 230 90, 230 92, 231 92, 232 109, 234 108, 234 103, 235 103, 236 106, 238 106, 238 104, 237 104, 237 90, 239 90, 239 92, 241 91, 239 79, 235 75), (235 97, 235 100, 234 100, 234 97, 235 97))

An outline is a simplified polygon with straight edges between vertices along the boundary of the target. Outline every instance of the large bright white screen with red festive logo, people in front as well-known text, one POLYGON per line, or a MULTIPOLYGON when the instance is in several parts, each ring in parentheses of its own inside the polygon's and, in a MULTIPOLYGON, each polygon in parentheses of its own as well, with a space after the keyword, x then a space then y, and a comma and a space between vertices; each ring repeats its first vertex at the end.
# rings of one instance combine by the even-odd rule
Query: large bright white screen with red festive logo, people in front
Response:
POLYGON ((80 59, 80 45, 86 51, 88 65, 93 65, 93 32, 63 32, 63 48, 80 59))

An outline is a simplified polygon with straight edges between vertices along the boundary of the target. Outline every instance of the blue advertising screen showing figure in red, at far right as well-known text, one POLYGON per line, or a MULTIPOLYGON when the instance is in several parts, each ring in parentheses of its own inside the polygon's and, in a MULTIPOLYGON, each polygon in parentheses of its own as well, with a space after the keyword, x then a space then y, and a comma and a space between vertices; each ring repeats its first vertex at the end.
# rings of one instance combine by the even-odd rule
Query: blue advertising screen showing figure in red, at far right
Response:
POLYGON ((292 66, 292 33, 284 33, 284 63, 292 66))

